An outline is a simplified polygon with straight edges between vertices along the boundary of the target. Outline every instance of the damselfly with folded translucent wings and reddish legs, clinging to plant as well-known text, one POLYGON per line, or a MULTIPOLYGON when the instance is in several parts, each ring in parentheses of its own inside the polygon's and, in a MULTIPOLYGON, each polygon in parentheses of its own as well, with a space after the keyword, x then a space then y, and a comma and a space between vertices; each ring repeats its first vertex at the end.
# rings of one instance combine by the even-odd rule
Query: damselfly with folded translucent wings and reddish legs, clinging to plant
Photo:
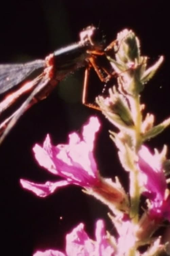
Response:
MULTIPOLYGON (((106 82, 112 72, 111 66, 105 68, 98 64, 100 56, 104 56, 106 60, 104 49, 103 37, 97 28, 90 26, 80 32, 80 40, 77 43, 56 50, 45 60, 26 64, 0 64, 0 95, 4 95, 0 102, 0 143, 28 108, 46 98, 68 73, 83 66, 86 70, 82 102, 88 105, 86 95, 89 69, 93 67, 102 82, 106 82), (34 79, 23 83, 30 75, 34 79), (30 94, 26 101, 7 117, 9 107, 28 92, 30 94)), ((107 65, 109 64, 107 61, 107 65)))

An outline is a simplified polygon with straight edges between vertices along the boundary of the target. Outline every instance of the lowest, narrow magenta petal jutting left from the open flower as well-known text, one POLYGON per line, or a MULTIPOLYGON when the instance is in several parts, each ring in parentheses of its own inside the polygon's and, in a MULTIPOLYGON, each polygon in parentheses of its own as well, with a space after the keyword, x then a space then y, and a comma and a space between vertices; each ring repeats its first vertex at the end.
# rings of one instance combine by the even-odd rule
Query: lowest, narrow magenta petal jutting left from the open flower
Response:
POLYGON ((34 183, 24 179, 20 179, 20 183, 23 188, 33 192, 37 196, 46 197, 52 194, 54 191, 59 189, 60 187, 64 187, 69 185, 68 181, 59 181, 59 182, 46 182, 44 184, 34 183))

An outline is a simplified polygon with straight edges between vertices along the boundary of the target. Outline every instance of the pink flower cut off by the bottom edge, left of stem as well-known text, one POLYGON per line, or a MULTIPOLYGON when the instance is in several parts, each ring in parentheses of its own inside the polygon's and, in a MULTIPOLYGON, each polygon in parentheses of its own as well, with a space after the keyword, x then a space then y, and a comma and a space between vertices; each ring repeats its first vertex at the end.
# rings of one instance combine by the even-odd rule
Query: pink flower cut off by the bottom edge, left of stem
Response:
POLYGON ((90 239, 84 230, 84 224, 80 223, 66 236, 65 253, 50 249, 37 251, 34 256, 114 256, 102 220, 96 223, 95 238, 95 241, 90 239))

